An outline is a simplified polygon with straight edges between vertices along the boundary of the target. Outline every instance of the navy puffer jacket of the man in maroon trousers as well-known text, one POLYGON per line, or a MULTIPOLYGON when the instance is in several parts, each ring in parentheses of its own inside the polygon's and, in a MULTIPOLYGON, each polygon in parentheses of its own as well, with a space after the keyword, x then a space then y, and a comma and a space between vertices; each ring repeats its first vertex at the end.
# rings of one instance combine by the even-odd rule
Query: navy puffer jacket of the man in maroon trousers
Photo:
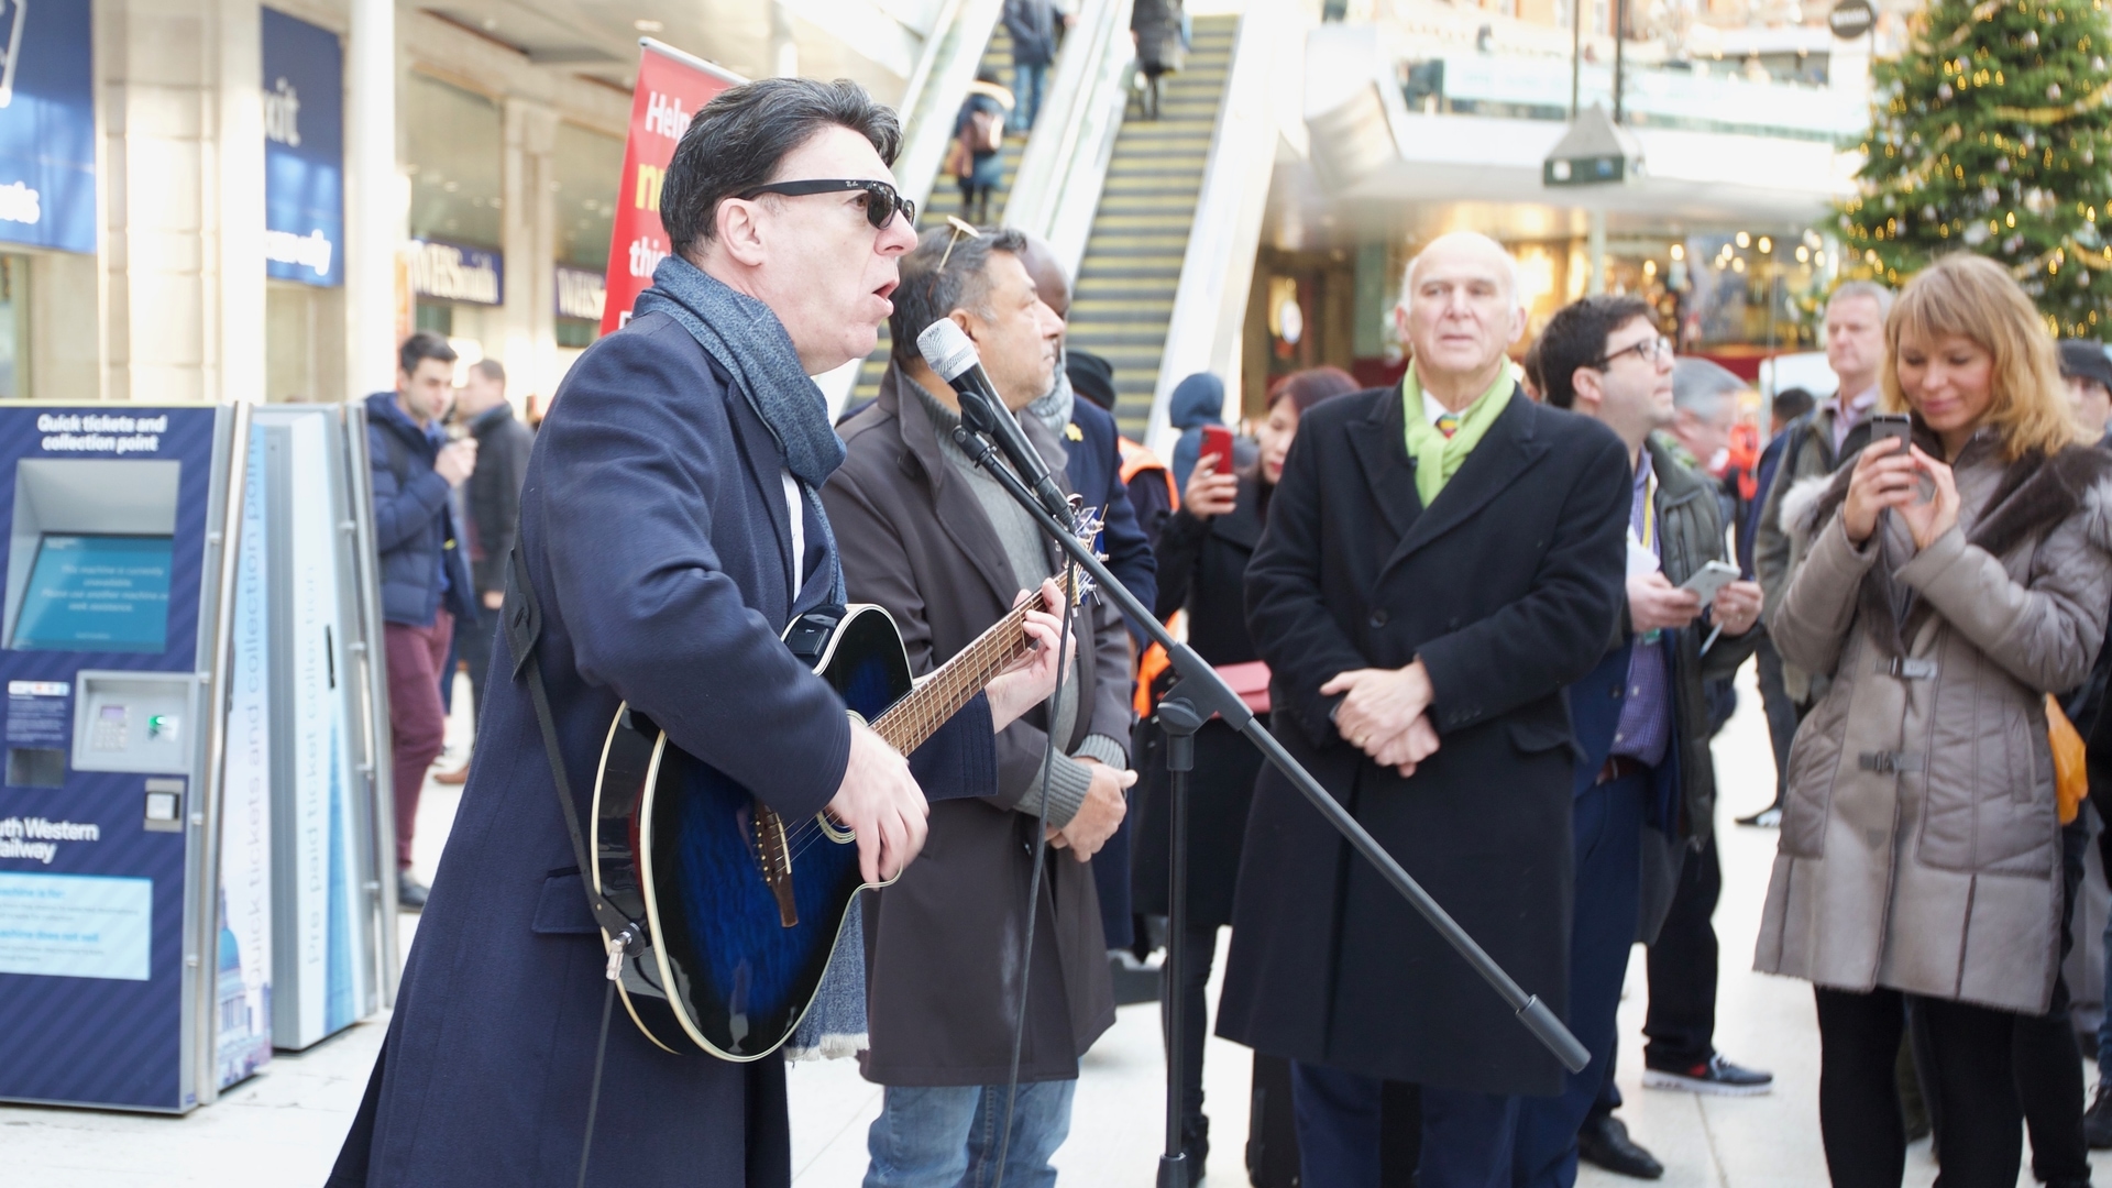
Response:
POLYGON ((448 480, 433 471, 439 448, 393 391, 367 397, 367 469, 374 482, 374 550, 380 552, 382 617, 425 628, 441 607, 439 567, 448 567, 448 611, 477 621, 469 562, 454 535, 448 480))

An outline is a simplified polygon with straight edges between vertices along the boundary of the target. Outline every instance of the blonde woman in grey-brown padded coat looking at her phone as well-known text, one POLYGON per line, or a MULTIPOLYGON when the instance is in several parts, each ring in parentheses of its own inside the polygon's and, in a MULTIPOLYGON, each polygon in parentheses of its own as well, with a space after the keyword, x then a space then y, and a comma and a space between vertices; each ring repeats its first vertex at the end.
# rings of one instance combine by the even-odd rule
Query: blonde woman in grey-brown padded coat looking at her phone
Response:
POLYGON ((1911 414, 1911 442, 1873 438, 1797 524, 1808 554, 1768 628, 1831 683, 1789 755, 1755 968, 1814 983, 1835 1186, 1901 1182, 1911 1000, 1945 1188, 2011 1188, 2011 1040, 2053 1004, 2061 955, 2042 702, 2104 636, 2112 457, 2087 448, 1998 264, 1935 262, 1884 334, 1882 408, 1911 414))

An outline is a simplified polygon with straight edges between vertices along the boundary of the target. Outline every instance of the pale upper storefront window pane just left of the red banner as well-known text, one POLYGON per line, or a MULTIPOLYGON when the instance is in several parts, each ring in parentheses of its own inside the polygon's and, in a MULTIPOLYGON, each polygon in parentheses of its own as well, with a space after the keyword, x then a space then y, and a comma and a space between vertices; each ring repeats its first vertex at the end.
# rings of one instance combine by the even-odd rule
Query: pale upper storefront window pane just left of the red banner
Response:
POLYGON ((410 131, 410 235, 498 247, 505 133, 498 104, 412 74, 403 89, 410 131))

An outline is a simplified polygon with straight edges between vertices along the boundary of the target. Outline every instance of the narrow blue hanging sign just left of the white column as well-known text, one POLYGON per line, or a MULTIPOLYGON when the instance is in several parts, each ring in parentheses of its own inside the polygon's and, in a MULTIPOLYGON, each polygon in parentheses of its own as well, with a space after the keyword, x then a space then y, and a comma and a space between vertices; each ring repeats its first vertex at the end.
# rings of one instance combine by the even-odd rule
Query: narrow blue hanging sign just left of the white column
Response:
POLYGON ((262 19, 264 275, 342 285, 344 47, 285 13, 262 19))

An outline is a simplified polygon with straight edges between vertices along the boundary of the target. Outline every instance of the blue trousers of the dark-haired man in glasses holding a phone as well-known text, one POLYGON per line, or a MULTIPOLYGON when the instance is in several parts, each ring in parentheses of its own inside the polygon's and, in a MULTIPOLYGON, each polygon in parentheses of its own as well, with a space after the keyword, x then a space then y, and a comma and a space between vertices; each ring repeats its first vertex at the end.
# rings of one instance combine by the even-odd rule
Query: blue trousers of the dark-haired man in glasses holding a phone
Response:
POLYGON ((1563 1076, 1559 1097, 1519 1099, 1514 1188, 1573 1188, 1578 1182, 1578 1129, 1607 1087, 1620 1040, 1616 1013, 1641 911, 1641 831, 1649 780, 1647 769, 1637 772, 1576 799, 1569 1029, 1590 1051, 1590 1063, 1563 1076))

